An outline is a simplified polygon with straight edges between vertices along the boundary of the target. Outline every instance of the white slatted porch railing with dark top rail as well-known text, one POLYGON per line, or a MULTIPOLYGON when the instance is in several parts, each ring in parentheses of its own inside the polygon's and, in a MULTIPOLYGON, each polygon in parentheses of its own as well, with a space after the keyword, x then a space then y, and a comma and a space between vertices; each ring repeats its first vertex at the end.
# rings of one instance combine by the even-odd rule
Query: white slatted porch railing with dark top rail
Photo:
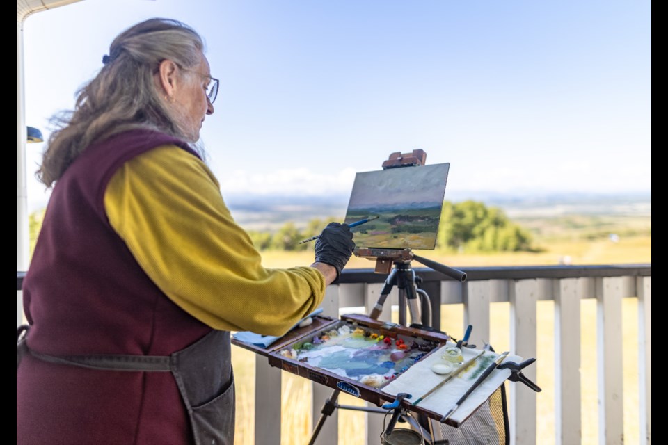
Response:
MULTIPOLYGON (((583 443, 580 302, 590 298, 596 299, 597 303, 598 443, 623 444, 623 367, 622 348, 619 347, 622 342, 622 299, 637 298, 639 406, 636 409, 639 437, 642 438, 640 442, 651 444, 651 265, 644 266, 642 273, 631 268, 628 270, 629 275, 624 275, 625 270, 606 266, 586 269, 581 274, 562 268, 546 268, 546 273, 542 273, 541 269, 536 273, 531 268, 524 271, 520 268, 507 270, 508 273, 504 274, 504 268, 495 269, 495 273, 487 274, 495 276, 491 279, 474 277, 463 283, 453 280, 440 282, 440 304, 463 304, 461 332, 467 325, 474 326, 470 343, 482 344, 490 338, 491 304, 509 302, 511 354, 540 360, 541 357, 536 356, 536 305, 541 300, 554 301, 555 444, 583 443), (508 278, 503 278, 503 275, 508 278), (536 277, 513 278, 514 275, 536 277), (541 275, 555 277, 539 277, 541 275)), ((383 283, 377 282, 348 282, 329 286, 322 305, 324 314, 338 317, 345 313, 342 309, 347 307, 364 307, 368 314, 378 300, 382 287, 383 283)), ((397 305, 398 294, 397 289, 392 289, 385 307, 397 305)), ((380 319, 388 319, 388 312, 383 311, 380 319)), ((255 358, 257 445, 276 444, 276 437, 280 437, 280 416, 276 415, 280 412, 280 372, 267 364, 266 357, 257 355, 255 358)), ((527 366, 523 373, 536 382, 535 366, 527 366)), ((321 415, 321 407, 332 395, 332 389, 317 383, 313 383, 312 387, 312 419, 315 424, 321 415)), ((508 388, 511 444, 536 444, 537 394, 519 383, 508 385, 508 388)), ((367 444, 378 444, 379 431, 383 430, 382 416, 372 414, 367 415, 366 419, 367 444)), ((328 416, 315 443, 339 443, 337 410, 328 416)))

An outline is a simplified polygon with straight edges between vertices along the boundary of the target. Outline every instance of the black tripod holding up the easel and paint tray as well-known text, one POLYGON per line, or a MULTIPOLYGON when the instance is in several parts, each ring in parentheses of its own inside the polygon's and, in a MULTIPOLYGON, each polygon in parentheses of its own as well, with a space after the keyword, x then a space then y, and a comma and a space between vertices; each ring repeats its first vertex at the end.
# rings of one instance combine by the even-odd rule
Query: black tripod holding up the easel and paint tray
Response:
MULTIPOLYGON (((411 316, 411 327, 413 327, 413 325, 416 324, 415 323, 416 321, 420 321, 420 310, 418 306, 417 296, 420 295, 426 300, 429 300, 429 296, 427 295, 427 292, 417 287, 417 282, 419 282, 420 278, 417 277, 417 275, 415 275, 415 270, 413 270, 413 268, 411 267, 411 261, 413 259, 419 261, 425 266, 428 266, 434 270, 437 270, 438 272, 444 273, 445 275, 452 277, 454 280, 459 280, 461 282, 466 280, 466 273, 463 273, 461 270, 456 270, 454 268, 450 268, 443 264, 437 263, 436 261, 431 261, 426 258, 418 257, 417 255, 413 254, 411 249, 395 250, 395 249, 356 248, 355 254, 358 257, 367 257, 368 259, 376 259, 376 272, 383 272, 385 270, 389 272, 388 277, 385 279, 385 284, 383 285, 383 289, 381 290, 381 295, 379 296, 379 300, 378 302, 376 302, 376 305, 374 305, 374 308, 372 309, 372 312, 369 315, 369 317, 374 318, 374 320, 377 320, 378 317, 381 315, 381 312, 383 312, 383 305, 385 303, 385 300, 388 298, 388 295, 390 295, 392 287, 397 286, 397 289, 399 289, 399 324, 406 326, 406 306, 408 306, 408 312, 410 313, 411 316), (394 265, 394 268, 392 268, 392 270, 390 271, 390 267, 392 265, 394 265)), ((425 307, 429 307, 429 305, 425 305, 425 307)), ((427 320, 429 320, 431 316, 426 318, 427 320)), ((417 323, 417 324, 420 324, 420 326, 422 326, 422 323, 417 323)), ((388 426, 388 430, 385 432, 385 434, 389 434, 390 430, 392 430, 392 428, 395 426, 395 423, 397 422, 397 419, 399 418, 400 414, 400 410, 398 407, 400 400, 395 401, 395 405, 397 405, 397 407, 395 407, 394 405, 388 405, 387 407, 385 407, 385 405, 383 405, 383 408, 385 409, 374 408, 374 407, 358 407, 351 405, 338 405, 337 399, 339 397, 339 393, 340 390, 335 389, 330 398, 328 398, 325 401, 321 409, 320 418, 318 419, 318 423, 316 424, 313 434, 311 436, 309 445, 315 444, 315 439, 317 438, 317 435, 319 434, 327 417, 334 412, 335 408, 366 411, 366 412, 378 412, 382 414, 388 413, 387 408, 390 409, 395 408, 395 415, 392 416, 392 421, 390 421, 390 426, 388 426)), ((413 426, 420 428, 422 435, 429 434, 429 432, 426 432, 424 430, 424 427, 422 427, 420 423, 415 423, 413 424, 413 426)))

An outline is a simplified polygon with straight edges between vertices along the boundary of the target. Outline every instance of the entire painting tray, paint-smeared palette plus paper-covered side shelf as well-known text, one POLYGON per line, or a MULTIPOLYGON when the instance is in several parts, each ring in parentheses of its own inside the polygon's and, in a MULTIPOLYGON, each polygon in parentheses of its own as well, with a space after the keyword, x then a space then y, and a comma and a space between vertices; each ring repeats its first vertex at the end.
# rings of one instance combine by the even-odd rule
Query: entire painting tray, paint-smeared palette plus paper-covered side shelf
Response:
MULTIPOLYGON (((411 394, 412 397, 404 399, 402 404, 413 412, 436 420, 443 417, 452 401, 456 401, 468 389, 470 380, 475 379, 479 369, 486 366, 486 362, 477 363, 477 366, 463 372, 462 378, 453 379, 413 406, 412 401, 444 378, 430 369, 432 364, 442 360, 445 348, 454 346, 444 332, 384 323, 365 315, 349 314, 340 320, 314 316, 311 325, 288 332, 268 348, 234 339, 232 343, 267 356, 271 366, 378 406, 395 401, 399 393, 411 394), (354 334, 356 330, 358 333, 354 334), (344 341, 341 344, 331 341, 337 338, 335 335, 344 341), (346 348, 346 341, 354 348, 346 348), (328 346, 324 347, 324 343, 328 343, 328 346), (406 345, 406 348, 399 348, 401 344, 406 345), (405 352, 404 357, 398 354, 401 352, 405 352), (346 359, 346 354, 351 356, 351 361, 346 359)), ((463 348, 462 352, 463 358, 468 359, 480 351, 463 348)), ((489 354, 494 356, 491 352, 489 354)), ((506 360, 518 362, 521 358, 509 356, 506 360)), ((444 423, 459 428, 509 376, 510 371, 507 369, 493 371, 488 382, 474 391, 470 399, 444 423)))

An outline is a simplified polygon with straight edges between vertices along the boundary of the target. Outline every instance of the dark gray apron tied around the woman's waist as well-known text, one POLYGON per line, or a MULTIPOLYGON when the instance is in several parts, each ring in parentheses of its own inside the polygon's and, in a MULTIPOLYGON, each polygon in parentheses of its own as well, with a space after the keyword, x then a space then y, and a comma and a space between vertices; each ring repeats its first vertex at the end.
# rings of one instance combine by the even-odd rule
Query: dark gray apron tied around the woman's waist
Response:
POLYGON ((25 353, 45 362, 106 371, 171 372, 186 405, 196 445, 234 444, 234 375, 230 332, 212 330, 171 355, 55 356, 29 350, 29 327, 17 328, 17 370, 25 353))

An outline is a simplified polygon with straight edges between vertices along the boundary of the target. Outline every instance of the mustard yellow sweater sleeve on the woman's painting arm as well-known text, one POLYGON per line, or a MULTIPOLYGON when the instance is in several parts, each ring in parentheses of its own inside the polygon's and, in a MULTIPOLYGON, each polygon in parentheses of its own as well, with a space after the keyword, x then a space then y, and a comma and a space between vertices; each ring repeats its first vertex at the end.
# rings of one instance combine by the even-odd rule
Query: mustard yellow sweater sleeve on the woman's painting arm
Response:
POLYGON ((319 270, 262 266, 216 177, 178 147, 157 147, 122 165, 104 207, 161 291, 214 329, 282 335, 324 297, 319 270))

